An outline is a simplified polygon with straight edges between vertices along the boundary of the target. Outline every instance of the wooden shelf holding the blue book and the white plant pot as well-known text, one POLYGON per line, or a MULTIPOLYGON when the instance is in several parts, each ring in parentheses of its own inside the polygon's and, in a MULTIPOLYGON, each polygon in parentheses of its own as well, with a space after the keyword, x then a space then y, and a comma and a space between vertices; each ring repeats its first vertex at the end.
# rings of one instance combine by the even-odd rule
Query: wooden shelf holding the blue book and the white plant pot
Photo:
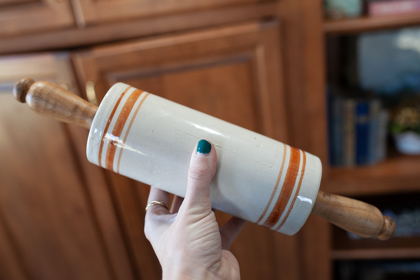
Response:
MULTIPOLYGON (((327 171, 328 172, 328 171, 327 171)), ((325 191, 342 195, 370 195, 420 191, 420 156, 390 156, 373 166, 333 168, 325 177, 325 191)))

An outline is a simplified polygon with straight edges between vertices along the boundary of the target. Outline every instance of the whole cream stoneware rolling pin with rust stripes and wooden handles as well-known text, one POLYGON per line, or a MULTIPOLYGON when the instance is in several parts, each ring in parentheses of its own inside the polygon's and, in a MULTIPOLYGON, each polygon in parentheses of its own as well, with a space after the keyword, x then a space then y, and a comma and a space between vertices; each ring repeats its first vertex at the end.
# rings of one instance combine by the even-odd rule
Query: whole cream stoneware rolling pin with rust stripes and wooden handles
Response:
POLYGON ((134 180, 183 197, 194 145, 207 139, 218 156, 214 209, 288 235, 310 213, 361 237, 394 234, 394 220, 376 207, 319 191, 318 157, 157 95, 117 83, 96 107, 31 78, 13 93, 39 114, 90 129, 89 161, 134 180))

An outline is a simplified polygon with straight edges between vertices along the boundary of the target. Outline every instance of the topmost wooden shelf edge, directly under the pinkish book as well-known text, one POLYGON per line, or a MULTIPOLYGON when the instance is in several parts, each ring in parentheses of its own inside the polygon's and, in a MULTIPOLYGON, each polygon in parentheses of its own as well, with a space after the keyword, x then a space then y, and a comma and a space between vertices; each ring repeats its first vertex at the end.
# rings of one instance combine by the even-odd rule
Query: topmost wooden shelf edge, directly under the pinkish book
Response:
POLYGON ((420 13, 407 13, 395 16, 362 16, 360 18, 346 18, 324 21, 323 31, 326 34, 351 34, 377 29, 392 29, 420 24, 420 13))

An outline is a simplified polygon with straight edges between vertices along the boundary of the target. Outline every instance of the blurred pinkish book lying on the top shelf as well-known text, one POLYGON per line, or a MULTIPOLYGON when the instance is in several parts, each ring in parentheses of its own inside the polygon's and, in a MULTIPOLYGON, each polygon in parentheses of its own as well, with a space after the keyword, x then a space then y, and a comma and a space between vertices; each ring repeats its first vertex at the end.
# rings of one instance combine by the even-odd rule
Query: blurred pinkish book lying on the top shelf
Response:
POLYGON ((390 16, 413 12, 420 12, 420 0, 367 1, 369 16, 390 16))

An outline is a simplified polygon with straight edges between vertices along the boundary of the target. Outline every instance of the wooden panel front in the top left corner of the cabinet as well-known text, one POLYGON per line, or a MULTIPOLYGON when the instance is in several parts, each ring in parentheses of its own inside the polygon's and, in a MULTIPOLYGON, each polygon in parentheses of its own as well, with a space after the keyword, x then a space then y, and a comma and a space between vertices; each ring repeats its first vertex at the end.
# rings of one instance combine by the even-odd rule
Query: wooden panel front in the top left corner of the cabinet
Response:
POLYGON ((0 37, 74 25, 68 0, 0 0, 0 37))

